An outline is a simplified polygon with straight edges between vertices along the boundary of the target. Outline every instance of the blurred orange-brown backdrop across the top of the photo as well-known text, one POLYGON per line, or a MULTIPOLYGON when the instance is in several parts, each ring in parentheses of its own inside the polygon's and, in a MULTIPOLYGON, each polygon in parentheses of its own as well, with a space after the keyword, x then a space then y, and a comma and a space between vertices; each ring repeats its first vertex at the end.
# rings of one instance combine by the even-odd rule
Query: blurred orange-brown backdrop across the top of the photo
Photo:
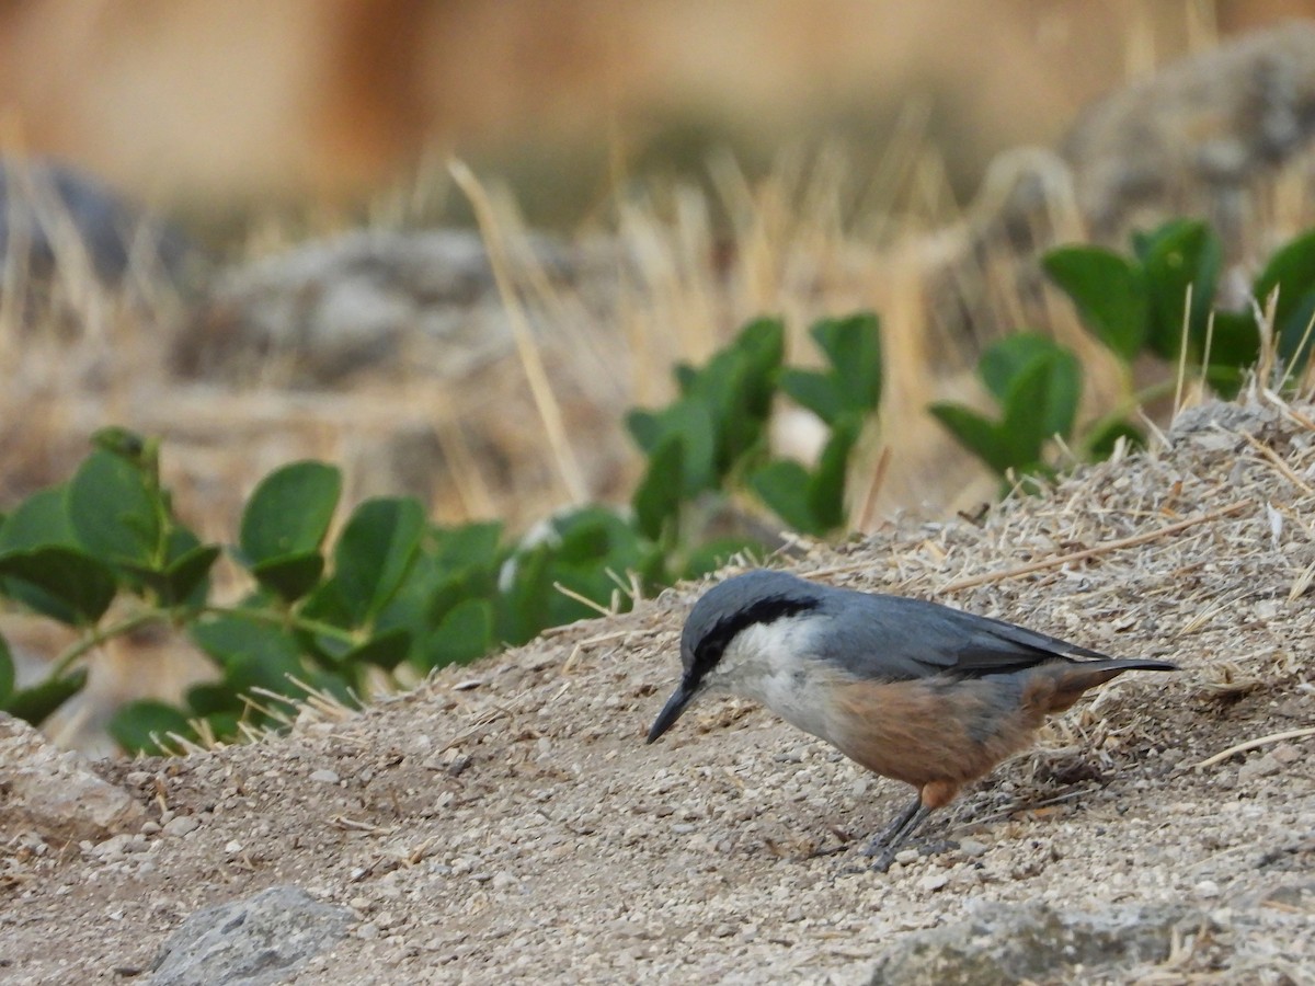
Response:
MULTIPOLYGON (((0 146, 54 155, 216 237, 362 208, 427 160, 569 226, 618 184, 761 172, 782 145, 872 160, 901 125, 960 197, 993 154, 1301 0, 4 0, 0 146), (910 118, 911 114, 911 118, 910 118)), ((460 196, 441 204, 462 218, 460 196)))

